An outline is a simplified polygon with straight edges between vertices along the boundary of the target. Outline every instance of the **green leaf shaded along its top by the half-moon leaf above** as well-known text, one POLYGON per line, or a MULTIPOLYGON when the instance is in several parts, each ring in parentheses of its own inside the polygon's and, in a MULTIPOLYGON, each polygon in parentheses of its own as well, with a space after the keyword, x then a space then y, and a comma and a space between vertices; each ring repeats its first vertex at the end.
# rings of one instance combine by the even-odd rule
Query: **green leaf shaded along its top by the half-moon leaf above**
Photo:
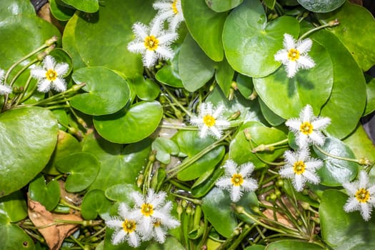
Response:
POLYGON ((101 166, 89 189, 105 191, 116 184, 134 184, 149 159, 151 140, 146 139, 124 147, 106 141, 97 134, 90 134, 82 141, 82 151, 93 154, 101 166))

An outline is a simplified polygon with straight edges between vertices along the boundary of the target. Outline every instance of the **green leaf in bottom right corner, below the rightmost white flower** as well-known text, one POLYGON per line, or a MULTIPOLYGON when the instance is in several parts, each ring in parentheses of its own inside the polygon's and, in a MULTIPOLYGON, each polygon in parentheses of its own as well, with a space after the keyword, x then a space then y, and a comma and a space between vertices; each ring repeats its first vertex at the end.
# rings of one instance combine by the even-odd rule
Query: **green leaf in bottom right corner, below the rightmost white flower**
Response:
POLYGON ((375 234, 374 214, 370 221, 364 221, 359 211, 346 214, 347 199, 341 191, 324 191, 319 207, 321 236, 335 249, 372 249, 375 247, 375 239, 371 237, 375 234))

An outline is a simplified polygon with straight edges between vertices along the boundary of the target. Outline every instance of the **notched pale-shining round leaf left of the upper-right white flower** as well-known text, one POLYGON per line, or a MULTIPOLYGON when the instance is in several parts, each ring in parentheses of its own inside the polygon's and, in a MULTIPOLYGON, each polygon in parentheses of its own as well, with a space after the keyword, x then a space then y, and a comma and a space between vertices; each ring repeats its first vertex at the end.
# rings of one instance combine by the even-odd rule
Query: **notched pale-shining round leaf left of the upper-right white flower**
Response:
POLYGON ((261 1, 246 0, 226 19, 223 31, 226 58, 241 74, 267 76, 280 66, 274 55, 282 48, 284 34, 298 36, 297 19, 281 16, 267 24, 261 1))

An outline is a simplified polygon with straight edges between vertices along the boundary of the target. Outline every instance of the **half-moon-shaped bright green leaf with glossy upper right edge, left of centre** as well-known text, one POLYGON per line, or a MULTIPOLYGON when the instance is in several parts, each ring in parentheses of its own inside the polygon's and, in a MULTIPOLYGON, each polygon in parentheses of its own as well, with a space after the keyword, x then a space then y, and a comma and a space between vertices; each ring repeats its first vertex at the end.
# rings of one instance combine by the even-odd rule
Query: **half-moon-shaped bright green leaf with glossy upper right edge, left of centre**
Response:
POLYGON ((116 114, 94 116, 94 126, 108 141, 130 144, 152 134, 163 117, 159 101, 141 101, 116 114), (119 129, 121 128, 121 129, 119 129))

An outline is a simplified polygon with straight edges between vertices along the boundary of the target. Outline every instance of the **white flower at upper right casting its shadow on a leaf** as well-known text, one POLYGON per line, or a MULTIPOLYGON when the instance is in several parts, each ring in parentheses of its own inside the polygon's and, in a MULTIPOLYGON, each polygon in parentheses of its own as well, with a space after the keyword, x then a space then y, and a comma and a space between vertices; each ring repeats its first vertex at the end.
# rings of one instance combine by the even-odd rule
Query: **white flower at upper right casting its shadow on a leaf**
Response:
POLYGON ((311 39, 295 41, 293 36, 284 34, 284 49, 277 51, 274 58, 285 65, 289 78, 301 69, 311 69, 315 66, 313 59, 307 54, 312 46, 311 39))

